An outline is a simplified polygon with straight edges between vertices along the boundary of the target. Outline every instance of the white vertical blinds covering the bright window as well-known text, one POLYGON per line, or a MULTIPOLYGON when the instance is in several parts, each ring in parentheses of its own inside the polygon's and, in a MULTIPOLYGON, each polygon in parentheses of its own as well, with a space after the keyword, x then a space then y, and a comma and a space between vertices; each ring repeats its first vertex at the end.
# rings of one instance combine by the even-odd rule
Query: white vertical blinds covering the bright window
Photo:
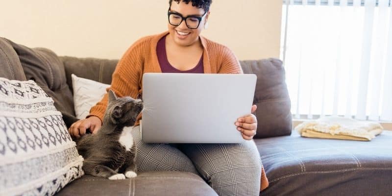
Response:
POLYGON ((288 4, 283 43, 295 118, 392 121, 391 0, 288 4))

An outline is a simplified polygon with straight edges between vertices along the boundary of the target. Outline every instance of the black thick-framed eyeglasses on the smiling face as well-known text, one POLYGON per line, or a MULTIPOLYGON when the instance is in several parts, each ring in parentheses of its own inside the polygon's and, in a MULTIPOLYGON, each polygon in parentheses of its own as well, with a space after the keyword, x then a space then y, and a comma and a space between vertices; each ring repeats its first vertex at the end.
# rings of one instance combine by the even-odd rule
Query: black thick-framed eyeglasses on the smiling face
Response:
POLYGON ((185 21, 185 24, 188 26, 188 28, 196 29, 199 27, 201 20, 203 19, 204 15, 207 12, 208 10, 205 11, 201 17, 195 15, 183 17, 180 13, 171 12, 169 8, 168 10, 169 23, 170 25, 178 26, 182 23, 182 21, 185 21))

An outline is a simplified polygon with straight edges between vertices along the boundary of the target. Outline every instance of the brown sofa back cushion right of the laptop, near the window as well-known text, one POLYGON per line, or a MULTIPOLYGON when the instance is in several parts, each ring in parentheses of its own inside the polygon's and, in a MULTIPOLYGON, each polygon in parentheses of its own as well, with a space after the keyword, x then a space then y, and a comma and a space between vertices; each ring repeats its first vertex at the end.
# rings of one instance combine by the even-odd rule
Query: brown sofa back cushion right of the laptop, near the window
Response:
POLYGON ((253 104, 257 105, 255 138, 290 135, 291 101, 285 81, 285 70, 279 59, 241 61, 244 73, 257 75, 253 104))

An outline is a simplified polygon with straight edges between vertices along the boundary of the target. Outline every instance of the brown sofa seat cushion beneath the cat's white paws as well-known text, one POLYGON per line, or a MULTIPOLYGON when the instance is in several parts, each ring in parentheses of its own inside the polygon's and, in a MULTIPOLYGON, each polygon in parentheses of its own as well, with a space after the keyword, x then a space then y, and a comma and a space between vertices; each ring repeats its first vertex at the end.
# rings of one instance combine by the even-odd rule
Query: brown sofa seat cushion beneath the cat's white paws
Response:
POLYGON ((218 196, 202 178, 189 172, 140 172, 135 178, 109 180, 84 175, 57 196, 218 196))

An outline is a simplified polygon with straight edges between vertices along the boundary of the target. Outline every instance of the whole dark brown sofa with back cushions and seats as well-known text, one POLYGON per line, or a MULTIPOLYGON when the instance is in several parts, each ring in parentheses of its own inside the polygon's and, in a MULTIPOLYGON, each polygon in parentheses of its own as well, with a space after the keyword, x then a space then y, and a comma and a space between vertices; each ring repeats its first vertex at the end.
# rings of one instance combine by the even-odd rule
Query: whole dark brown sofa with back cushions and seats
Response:
MULTIPOLYGON (((33 79, 55 101, 67 126, 76 121, 71 73, 109 84, 117 60, 58 57, 49 49, 30 49, 0 38, 0 77, 33 79)), ((254 139, 269 187, 263 196, 391 196, 392 132, 371 142, 300 137, 291 131, 290 98, 281 61, 241 61, 257 74, 254 103, 259 127, 254 139)), ((240 175, 240 174, 239 174, 240 175)), ((141 172, 136 178, 107 180, 89 175, 57 193, 119 196, 215 196, 208 182, 187 172, 141 172)))

